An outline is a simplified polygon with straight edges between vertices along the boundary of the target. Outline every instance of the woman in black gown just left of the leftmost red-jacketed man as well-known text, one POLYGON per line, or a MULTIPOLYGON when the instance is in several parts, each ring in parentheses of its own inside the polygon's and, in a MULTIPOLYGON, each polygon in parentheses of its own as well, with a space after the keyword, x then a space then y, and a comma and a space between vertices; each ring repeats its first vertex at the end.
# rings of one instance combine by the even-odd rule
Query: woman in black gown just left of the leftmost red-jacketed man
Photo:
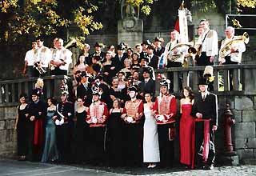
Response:
POLYGON ((86 161, 88 136, 89 136, 89 124, 85 122, 87 117, 88 107, 84 106, 84 98, 77 98, 77 110, 75 112, 76 127, 75 127, 75 146, 74 160, 75 162, 86 161), (87 136, 87 138, 86 138, 87 136))

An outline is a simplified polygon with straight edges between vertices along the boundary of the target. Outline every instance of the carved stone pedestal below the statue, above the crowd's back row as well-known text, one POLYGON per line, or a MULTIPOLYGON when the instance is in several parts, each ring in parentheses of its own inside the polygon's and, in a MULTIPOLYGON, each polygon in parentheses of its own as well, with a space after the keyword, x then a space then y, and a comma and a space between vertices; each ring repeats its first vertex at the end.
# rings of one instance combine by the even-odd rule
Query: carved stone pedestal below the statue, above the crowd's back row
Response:
POLYGON ((135 45, 142 43, 143 21, 142 19, 125 18, 118 21, 118 43, 125 42, 134 49, 135 45))

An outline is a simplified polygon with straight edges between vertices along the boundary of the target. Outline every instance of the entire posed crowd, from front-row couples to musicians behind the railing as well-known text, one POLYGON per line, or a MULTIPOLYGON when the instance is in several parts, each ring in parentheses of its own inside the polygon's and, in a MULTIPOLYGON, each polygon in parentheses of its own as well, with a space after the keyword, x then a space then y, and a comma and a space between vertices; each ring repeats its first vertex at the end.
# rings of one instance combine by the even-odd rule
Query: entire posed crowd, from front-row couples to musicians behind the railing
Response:
MULTIPOLYGON (((212 66, 218 55, 218 35, 207 20, 200 22, 198 35, 194 62, 212 66)), ((228 27, 221 49, 233 38, 234 28, 228 27)), ((212 169, 218 126, 217 96, 208 91, 213 71, 200 77, 197 96, 190 87, 182 87, 182 75, 178 75, 182 90, 178 124, 177 100, 171 94, 174 75, 158 75, 160 95, 155 97, 154 70, 182 67, 190 52, 188 46, 178 45, 177 30, 171 30, 165 47, 162 42, 157 37, 154 43, 136 45, 135 50, 122 42, 117 48, 109 46, 106 53, 96 42, 93 54, 90 45, 84 44, 74 66, 73 87, 62 91, 61 102, 47 98, 46 105, 42 87, 32 91, 30 104, 22 94, 15 123, 20 159, 107 162, 110 166, 141 166, 145 162, 148 168, 170 167, 174 164, 175 125, 179 125, 180 162, 192 169, 212 169)), ((222 64, 241 62, 244 43, 235 43, 231 49, 219 59, 222 64)), ((71 55, 61 38, 54 39, 53 49, 38 38, 26 53, 23 72, 29 77, 66 75, 71 55)))

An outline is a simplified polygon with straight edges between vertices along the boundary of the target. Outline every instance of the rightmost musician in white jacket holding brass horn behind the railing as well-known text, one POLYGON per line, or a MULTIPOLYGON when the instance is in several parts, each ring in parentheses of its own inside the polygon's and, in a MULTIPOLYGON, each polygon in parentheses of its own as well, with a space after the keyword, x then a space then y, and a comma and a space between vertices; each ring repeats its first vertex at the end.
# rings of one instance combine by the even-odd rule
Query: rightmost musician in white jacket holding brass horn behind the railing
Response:
MULTIPOLYGON (((219 50, 218 61, 220 64, 240 64, 242 53, 246 51, 245 43, 249 42, 248 34, 234 36, 234 27, 228 26, 225 30, 226 38, 222 40, 222 46, 219 50)), ((230 90, 233 90, 232 81, 234 79, 233 70, 230 70, 230 90)))

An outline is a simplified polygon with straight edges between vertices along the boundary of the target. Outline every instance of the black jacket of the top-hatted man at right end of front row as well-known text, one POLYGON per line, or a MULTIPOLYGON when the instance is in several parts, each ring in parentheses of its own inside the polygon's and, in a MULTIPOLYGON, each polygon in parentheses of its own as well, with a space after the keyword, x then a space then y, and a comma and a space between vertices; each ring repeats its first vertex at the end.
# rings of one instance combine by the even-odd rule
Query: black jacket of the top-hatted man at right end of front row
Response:
POLYGON ((211 126, 218 126, 218 99, 216 94, 208 93, 205 100, 201 94, 197 94, 194 98, 191 115, 196 117, 197 113, 202 114, 202 118, 210 119, 211 126))

